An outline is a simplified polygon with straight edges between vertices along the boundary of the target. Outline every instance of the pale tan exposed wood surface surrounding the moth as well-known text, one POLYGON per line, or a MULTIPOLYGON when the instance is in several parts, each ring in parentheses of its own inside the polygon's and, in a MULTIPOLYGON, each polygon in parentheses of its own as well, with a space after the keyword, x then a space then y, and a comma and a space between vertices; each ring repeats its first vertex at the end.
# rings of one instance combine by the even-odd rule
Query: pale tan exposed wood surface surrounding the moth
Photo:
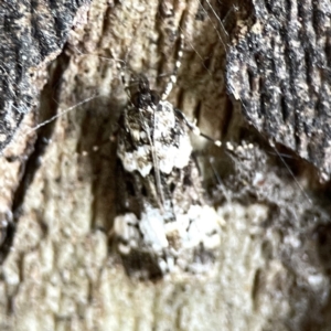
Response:
POLYGON ((0 163, 1 330, 331 330, 330 189, 296 153, 276 153, 267 131, 245 124, 242 111, 255 108, 226 94, 236 84, 241 95, 231 61, 266 6, 95 0, 79 12, 63 53, 39 72, 46 85, 38 113, 24 117, 0 163), (162 92, 179 33, 183 63, 169 100, 205 134, 245 148, 228 153, 193 137, 221 220, 215 273, 139 281, 108 247, 114 132, 127 103, 118 64, 162 92), (31 130, 35 114, 39 122, 62 115, 31 130))

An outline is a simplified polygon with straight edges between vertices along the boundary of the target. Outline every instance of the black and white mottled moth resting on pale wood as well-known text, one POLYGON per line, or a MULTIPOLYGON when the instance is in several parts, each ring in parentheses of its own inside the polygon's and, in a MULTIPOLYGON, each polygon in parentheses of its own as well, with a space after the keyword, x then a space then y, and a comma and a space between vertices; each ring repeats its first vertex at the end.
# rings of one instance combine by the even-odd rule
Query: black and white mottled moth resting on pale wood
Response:
MULTIPOLYGON (((179 66, 180 61, 174 73, 179 66)), ((175 74, 162 97, 145 75, 137 82, 117 134, 116 248, 127 271, 138 277, 207 273, 220 247, 220 225, 215 210, 204 201, 192 157, 189 134, 202 134, 167 100, 175 74)))

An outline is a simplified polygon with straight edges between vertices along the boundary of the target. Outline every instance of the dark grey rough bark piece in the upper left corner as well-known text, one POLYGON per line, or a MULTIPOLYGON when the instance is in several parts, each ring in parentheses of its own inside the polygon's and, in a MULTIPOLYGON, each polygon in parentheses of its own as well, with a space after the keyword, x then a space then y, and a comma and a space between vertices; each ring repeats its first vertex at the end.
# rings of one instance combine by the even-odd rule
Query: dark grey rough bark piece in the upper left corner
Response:
POLYGON ((1 1, 0 151, 35 107, 45 79, 42 68, 61 52, 76 12, 87 2, 1 1))

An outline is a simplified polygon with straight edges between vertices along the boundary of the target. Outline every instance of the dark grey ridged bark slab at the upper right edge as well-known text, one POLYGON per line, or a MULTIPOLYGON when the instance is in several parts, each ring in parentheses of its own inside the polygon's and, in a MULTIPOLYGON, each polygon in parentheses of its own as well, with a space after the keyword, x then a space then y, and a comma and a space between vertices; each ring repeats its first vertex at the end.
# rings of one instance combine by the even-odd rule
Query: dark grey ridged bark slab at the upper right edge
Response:
POLYGON ((331 2, 253 1, 227 64, 229 90, 263 135, 331 174, 331 2), (247 25, 248 24, 248 25, 247 25))

